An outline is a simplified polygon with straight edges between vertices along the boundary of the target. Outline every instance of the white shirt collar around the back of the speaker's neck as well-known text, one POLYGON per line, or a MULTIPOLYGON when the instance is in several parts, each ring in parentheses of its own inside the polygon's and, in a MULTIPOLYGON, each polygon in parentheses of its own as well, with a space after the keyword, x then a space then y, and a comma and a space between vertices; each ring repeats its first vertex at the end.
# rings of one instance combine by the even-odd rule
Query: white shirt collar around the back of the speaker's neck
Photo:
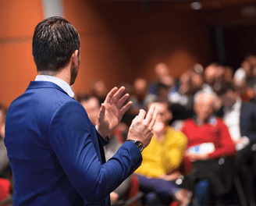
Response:
POLYGON ((66 81, 59 79, 58 77, 55 76, 49 76, 49 75, 37 75, 35 81, 48 81, 57 84, 59 87, 62 88, 63 91, 66 91, 67 94, 71 98, 74 97, 74 93, 66 81))

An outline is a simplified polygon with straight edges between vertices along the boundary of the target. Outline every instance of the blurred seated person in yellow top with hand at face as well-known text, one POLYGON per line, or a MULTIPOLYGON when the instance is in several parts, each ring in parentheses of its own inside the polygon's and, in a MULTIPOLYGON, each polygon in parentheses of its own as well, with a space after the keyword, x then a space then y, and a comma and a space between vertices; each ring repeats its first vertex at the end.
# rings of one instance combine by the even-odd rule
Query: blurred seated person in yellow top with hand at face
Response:
POLYGON ((172 113, 167 102, 153 102, 158 118, 153 127, 154 136, 142 151, 143 161, 135 173, 140 190, 146 193, 145 204, 170 204, 173 200, 182 205, 190 203, 191 193, 180 189, 174 181, 182 174, 176 169, 183 161, 187 146, 186 136, 168 126, 172 113), (151 196, 153 195, 153 196, 151 196))

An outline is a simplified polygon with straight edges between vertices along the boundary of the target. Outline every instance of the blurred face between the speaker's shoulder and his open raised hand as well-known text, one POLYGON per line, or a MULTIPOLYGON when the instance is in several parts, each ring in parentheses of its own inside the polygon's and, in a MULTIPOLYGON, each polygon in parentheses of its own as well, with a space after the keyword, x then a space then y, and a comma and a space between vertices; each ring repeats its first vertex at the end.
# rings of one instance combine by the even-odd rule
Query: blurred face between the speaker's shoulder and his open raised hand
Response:
POLYGON ((84 106, 91 123, 98 124, 98 115, 100 113, 100 105, 97 98, 90 98, 88 101, 81 101, 84 106))

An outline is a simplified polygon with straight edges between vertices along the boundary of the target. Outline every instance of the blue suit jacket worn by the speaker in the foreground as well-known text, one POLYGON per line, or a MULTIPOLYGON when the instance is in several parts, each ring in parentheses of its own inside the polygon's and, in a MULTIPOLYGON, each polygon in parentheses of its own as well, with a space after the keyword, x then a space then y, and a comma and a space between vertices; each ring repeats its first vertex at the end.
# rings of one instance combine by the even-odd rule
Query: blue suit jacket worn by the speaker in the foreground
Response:
POLYGON ((14 204, 110 204, 109 194, 142 158, 125 142, 105 162, 106 143, 79 102, 55 83, 30 82, 6 115, 14 204))

